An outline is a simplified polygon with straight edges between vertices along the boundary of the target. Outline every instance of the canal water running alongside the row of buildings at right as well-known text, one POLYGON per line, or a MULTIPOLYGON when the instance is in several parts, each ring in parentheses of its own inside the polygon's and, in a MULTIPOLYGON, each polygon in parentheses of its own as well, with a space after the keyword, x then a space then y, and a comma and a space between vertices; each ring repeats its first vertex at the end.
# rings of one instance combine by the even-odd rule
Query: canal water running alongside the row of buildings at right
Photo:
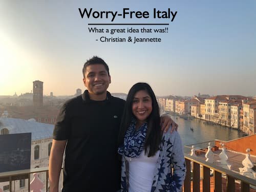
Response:
POLYGON ((204 124, 204 120, 191 119, 185 120, 179 116, 170 115, 179 125, 178 132, 181 136, 183 145, 191 145, 209 140, 219 139, 223 141, 237 139, 243 136, 242 132, 229 127, 220 125, 204 124), (193 128, 193 131, 190 130, 193 128))

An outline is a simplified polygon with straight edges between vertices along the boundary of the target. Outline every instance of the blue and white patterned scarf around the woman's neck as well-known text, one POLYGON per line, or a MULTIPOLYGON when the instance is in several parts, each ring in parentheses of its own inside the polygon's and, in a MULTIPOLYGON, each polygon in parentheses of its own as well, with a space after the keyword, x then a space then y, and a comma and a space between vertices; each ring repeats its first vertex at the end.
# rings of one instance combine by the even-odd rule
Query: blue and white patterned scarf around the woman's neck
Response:
POLYGON ((138 158, 144 150, 144 142, 146 138, 147 123, 145 122, 136 131, 136 119, 132 119, 123 140, 123 145, 118 148, 118 153, 125 157, 138 158))

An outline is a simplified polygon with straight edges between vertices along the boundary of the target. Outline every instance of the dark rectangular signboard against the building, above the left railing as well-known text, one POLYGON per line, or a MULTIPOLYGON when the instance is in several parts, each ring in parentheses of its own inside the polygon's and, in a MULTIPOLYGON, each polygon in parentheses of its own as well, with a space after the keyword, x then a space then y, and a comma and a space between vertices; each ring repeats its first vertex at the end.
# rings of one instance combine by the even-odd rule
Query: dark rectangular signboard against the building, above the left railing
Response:
POLYGON ((30 168, 31 133, 0 135, 0 173, 30 168))

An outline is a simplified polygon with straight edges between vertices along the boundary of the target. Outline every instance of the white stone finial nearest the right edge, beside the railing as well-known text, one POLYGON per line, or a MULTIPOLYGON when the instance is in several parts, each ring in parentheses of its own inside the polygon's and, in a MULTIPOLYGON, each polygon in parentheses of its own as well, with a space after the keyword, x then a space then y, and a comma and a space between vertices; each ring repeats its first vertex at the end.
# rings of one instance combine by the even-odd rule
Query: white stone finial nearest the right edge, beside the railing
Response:
POLYGON ((252 179, 256 179, 256 172, 254 172, 253 168, 253 163, 250 159, 250 148, 246 149, 246 155, 244 160, 242 161, 242 164, 244 165, 244 167, 239 168, 239 172, 241 175, 243 176, 247 176, 250 177, 252 179))

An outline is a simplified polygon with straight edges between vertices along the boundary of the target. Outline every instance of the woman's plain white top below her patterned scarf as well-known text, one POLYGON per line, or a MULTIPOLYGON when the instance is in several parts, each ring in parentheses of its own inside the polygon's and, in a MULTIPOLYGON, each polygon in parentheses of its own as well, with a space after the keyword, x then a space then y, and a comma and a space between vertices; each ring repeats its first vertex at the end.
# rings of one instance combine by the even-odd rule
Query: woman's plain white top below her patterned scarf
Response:
POLYGON ((144 150, 138 158, 125 157, 129 162, 129 192, 151 191, 158 157, 159 151, 155 156, 147 157, 144 150))

